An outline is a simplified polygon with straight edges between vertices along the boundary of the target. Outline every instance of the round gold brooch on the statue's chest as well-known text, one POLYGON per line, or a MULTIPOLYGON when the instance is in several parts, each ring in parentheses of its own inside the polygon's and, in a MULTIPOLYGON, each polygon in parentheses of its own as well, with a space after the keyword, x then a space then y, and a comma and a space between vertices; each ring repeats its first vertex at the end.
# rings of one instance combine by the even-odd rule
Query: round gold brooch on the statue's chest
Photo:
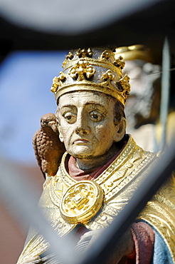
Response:
POLYGON ((85 223, 100 210, 104 193, 95 181, 79 181, 60 200, 60 213, 68 223, 85 223))

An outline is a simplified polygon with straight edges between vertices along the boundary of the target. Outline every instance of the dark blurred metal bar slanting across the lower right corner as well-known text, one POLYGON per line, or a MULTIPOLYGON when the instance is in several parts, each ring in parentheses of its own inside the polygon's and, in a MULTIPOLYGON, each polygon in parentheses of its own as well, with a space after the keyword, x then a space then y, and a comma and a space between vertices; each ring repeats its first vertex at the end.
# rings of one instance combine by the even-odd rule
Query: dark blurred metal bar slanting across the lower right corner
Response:
POLYGON ((81 264, 105 263, 112 251, 115 249, 117 242, 120 240, 129 225, 134 221, 140 211, 144 208, 147 201, 154 196, 162 183, 171 175, 175 169, 175 140, 172 141, 171 147, 161 156, 160 160, 151 173, 147 176, 146 181, 134 193, 134 196, 124 209, 117 215, 115 220, 100 236, 100 239, 85 254, 81 264))

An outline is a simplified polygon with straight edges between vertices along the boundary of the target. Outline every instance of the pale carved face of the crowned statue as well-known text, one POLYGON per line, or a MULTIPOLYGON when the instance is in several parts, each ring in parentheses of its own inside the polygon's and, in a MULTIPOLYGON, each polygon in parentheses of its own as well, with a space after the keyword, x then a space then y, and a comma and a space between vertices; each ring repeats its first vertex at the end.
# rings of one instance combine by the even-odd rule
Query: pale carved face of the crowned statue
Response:
POLYGON ((115 103, 111 96, 91 91, 60 96, 60 141, 71 156, 99 157, 107 153, 114 141, 122 139, 118 137, 119 129, 114 123, 115 103))

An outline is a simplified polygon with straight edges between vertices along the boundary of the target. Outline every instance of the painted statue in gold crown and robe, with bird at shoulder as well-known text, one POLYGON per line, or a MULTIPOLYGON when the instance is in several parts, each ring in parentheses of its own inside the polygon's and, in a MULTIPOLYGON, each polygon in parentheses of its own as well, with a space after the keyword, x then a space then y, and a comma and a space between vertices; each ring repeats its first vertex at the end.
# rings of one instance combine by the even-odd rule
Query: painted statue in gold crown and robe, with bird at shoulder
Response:
MULTIPOLYGON (((63 71, 53 78, 55 117, 41 118, 33 139, 46 175, 39 206, 60 237, 73 233, 78 238, 78 253, 120 213, 157 161, 156 154, 144 151, 126 133, 130 84, 123 68, 124 59, 115 49, 70 51, 63 71)), ((175 263, 174 191, 170 178, 126 230, 107 263, 175 263)), ((18 264, 56 263, 49 246, 31 229, 18 264)))

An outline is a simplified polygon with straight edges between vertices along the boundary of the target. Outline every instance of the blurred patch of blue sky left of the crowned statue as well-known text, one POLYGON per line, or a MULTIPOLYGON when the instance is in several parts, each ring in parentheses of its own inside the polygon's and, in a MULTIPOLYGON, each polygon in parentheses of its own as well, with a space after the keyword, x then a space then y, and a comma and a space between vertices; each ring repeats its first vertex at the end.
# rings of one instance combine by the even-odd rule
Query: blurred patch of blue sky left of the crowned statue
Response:
POLYGON ((55 113, 50 88, 67 51, 16 51, 0 66, 0 154, 36 163, 32 136, 45 113, 55 113))

